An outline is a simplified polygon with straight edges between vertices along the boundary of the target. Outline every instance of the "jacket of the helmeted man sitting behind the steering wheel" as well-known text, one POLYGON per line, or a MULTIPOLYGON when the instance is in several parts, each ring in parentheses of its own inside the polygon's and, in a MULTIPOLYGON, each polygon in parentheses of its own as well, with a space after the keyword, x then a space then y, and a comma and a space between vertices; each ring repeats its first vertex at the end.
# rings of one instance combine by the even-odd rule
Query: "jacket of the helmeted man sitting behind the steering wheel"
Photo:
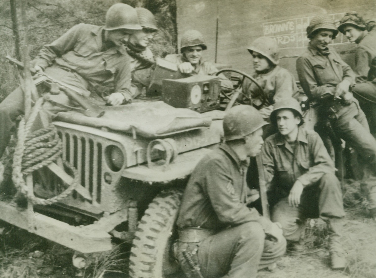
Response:
MULTIPOLYGON (((264 93, 268 96, 265 104, 259 110, 264 119, 269 120, 271 111, 273 111, 273 105, 280 98, 289 98, 298 93, 295 77, 287 69, 280 66, 275 66, 265 74, 255 73, 252 77, 256 79, 264 90, 264 93)), ((244 80, 243 93, 249 95, 252 102, 255 102, 256 105, 261 104, 260 89, 248 78, 244 80)))

